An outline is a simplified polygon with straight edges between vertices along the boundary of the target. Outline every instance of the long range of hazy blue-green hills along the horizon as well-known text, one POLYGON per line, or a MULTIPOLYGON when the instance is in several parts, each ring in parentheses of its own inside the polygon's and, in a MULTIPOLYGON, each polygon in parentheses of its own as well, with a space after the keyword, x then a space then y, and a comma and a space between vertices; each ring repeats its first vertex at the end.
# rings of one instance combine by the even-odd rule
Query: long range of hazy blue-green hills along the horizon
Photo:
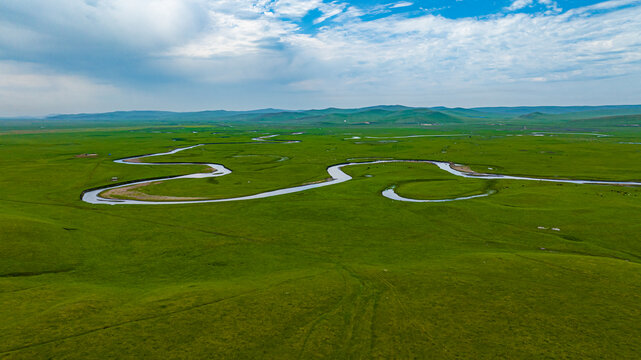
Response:
POLYGON ((87 126, 205 125, 225 126, 370 126, 370 127, 453 127, 536 126, 598 128, 636 126, 641 105, 612 106, 520 106, 465 108, 414 108, 378 105, 358 109, 251 111, 210 110, 197 112, 115 111, 98 114, 62 114, 46 118, 0 119, 4 130, 22 128, 63 128, 87 126))

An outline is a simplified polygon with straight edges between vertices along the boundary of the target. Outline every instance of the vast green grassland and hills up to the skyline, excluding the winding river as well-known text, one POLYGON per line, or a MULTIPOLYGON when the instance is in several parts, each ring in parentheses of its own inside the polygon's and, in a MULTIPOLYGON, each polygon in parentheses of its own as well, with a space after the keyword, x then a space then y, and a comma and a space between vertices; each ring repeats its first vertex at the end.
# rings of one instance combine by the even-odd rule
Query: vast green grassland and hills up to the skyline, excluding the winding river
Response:
POLYGON ((114 176, 202 171, 113 162, 200 143, 208 145, 146 160, 220 163, 233 173, 144 191, 250 195, 379 158, 641 180, 641 129, 632 126, 641 119, 574 110, 0 121, 0 358, 638 358, 641 188, 463 179, 391 163, 347 167, 351 181, 261 200, 80 200, 114 176), (421 125, 427 117, 435 125, 421 125), (264 134, 301 142, 251 140, 264 134), (417 134, 459 135, 396 138, 417 134), (84 153, 98 156, 75 157, 84 153), (418 199, 496 193, 405 203, 381 196, 391 185, 418 199))

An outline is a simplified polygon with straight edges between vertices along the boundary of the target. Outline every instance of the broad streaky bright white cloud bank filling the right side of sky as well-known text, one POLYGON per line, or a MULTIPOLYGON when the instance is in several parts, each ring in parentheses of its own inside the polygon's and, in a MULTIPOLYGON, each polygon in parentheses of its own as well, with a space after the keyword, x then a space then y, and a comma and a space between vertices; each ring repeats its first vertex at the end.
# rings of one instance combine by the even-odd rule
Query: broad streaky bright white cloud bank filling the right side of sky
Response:
POLYGON ((296 86, 315 84, 342 94, 350 89, 429 94, 436 88, 483 91, 488 85, 639 73, 641 8, 575 16, 586 11, 489 20, 391 16, 327 28, 314 37, 289 37, 310 67, 331 64, 329 73, 296 86))

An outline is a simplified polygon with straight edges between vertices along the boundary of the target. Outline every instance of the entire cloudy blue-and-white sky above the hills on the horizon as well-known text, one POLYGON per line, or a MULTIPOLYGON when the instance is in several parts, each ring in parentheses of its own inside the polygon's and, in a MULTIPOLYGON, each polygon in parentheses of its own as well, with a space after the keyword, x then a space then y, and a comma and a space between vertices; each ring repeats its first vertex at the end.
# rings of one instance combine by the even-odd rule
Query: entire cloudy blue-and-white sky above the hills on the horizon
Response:
POLYGON ((0 116, 641 104, 641 0, 2 0, 0 116))

